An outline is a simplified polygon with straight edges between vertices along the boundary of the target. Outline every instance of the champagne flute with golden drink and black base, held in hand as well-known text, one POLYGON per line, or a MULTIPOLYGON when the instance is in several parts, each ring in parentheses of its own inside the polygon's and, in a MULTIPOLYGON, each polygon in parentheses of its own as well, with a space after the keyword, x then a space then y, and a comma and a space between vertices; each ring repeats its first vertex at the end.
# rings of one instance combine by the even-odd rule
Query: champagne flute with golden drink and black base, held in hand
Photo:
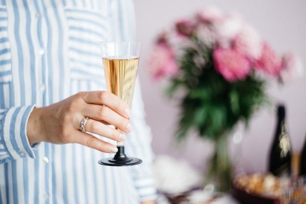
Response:
MULTIPOLYGON (((118 96, 131 108, 141 43, 100 42, 100 48, 108 91, 118 96)), ((125 155, 124 141, 117 142, 116 146, 118 152, 113 158, 101 159, 98 163, 108 166, 131 166, 142 162, 141 159, 125 155)))

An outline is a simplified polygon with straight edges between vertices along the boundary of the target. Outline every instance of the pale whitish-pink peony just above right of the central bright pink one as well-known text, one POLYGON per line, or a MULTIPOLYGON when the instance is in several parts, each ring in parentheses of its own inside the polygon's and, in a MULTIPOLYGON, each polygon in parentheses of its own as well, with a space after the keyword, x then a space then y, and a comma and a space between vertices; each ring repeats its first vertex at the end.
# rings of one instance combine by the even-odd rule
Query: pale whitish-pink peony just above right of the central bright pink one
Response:
POLYGON ((233 42, 233 46, 250 59, 258 59, 260 57, 261 45, 259 33, 248 24, 243 24, 233 42))

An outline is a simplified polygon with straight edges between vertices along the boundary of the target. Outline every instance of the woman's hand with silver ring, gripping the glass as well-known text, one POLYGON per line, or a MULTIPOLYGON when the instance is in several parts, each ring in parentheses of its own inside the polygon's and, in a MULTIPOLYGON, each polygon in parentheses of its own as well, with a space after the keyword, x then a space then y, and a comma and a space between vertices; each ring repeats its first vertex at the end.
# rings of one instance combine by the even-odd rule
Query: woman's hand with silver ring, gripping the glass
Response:
POLYGON ((80 92, 50 106, 35 108, 27 123, 27 136, 30 144, 41 141, 79 143, 102 152, 115 153, 118 151, 116 146, 86 132, 123 141, 126 137, 124 133, 132 131, 130 115, 129 106, 108 91, 80 92), (89 117, 85 124, 86 132, 80 130, 84 117, 89 117), (122 132, 109 127, 109 124, 122 132))

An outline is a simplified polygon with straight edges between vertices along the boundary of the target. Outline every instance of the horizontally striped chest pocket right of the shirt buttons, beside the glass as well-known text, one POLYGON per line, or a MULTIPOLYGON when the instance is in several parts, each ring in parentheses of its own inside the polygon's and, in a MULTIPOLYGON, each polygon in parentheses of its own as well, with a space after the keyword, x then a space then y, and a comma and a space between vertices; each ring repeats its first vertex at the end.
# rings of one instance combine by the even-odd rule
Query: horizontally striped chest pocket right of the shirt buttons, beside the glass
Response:
POLYGON ((101 80, 104 71, 99 42, 108 38, 107 17, 96 11, 75 7, 66 7, 65 13, 71 79, 101 80))

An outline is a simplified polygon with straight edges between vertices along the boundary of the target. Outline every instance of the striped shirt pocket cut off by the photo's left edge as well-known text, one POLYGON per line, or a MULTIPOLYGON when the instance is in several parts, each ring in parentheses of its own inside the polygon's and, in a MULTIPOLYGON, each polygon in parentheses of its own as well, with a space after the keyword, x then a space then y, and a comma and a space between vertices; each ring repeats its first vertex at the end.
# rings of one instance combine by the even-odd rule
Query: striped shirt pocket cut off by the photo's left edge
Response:
POLYGON ((12 54, 7 32, 6 7, 0 5, 0 83, 12 81, 12 54))

